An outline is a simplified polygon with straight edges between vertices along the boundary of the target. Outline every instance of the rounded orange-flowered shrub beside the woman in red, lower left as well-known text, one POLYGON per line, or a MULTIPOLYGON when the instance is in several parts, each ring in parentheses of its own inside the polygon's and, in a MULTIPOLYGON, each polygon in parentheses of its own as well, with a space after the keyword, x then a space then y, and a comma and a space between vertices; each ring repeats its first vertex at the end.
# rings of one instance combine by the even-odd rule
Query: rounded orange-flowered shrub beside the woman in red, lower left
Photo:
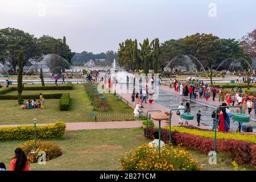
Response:
POLYGON ((17 147, 22 148, 24 153, 27 155, 28 162, 30 163, 38 162, 38 159, 40 158, 38 152, 40 151, 46 152, 46 161, 55 159, 62 155, 62 150, 57 144, 47 141, 37 140, 36 152, 33 154, 31 154, 31 151, 35 149, 35 140, 28 140, 17 147))

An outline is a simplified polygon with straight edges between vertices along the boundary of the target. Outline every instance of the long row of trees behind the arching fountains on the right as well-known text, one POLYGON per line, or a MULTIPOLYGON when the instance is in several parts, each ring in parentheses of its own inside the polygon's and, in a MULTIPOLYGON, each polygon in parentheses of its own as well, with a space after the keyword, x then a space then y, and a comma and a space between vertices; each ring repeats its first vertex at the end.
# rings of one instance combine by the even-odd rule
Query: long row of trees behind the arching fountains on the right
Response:
MULTIPOLYGON (((176 56, 192 55, 191 60, 195 63, 197 71, 200 71, 201 64, 205 69, 216 69, 229 57, 243 58, 251 64, 251 58, 256 57, 256 30, 243 36, 240 41, 197 33, 181 39, 166 40, 161 44, 158 38, 152 42, 146 38, 139 46, 140 48, 136 39, 126 39, 125 42, 119 43, 119 65, 133 71, 143 69, 148 73, 151 69, 158 73, 176 56)), ((172 69, 175 64, 173 61, 169 67, 172 69)))

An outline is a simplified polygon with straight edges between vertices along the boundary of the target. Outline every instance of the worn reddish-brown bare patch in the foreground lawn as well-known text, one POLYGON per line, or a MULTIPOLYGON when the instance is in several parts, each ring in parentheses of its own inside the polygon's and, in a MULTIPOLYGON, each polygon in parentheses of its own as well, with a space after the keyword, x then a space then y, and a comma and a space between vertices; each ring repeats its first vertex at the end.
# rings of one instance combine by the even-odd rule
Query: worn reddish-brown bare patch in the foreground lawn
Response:
POLYGON ((123 147, 115 144, 103 144, 101 146, 94 146, 92 148, 83 148, 80 150, 73 150, 77 154, 84 154, 87 152, 98 152, 98 151, 110 151, 110 150, 121 150, 123 147))

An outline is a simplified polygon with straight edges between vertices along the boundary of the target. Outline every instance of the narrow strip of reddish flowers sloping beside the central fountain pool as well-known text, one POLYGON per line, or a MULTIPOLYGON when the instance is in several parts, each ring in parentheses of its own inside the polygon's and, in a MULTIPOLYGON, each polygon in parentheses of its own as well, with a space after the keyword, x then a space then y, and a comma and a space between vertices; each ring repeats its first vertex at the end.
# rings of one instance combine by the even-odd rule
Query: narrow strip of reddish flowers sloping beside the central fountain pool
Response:
POLYGON ((98 95, 97 90, 93 88, 91 84, 86 82, 84 84, 85 90, 90 97, 90 100, 92 101, 92 104, 94 106, 94 109, 100 110, 100 111, 108 111, 110 109, 109 104, 106 102, 106 100, 101 100, 100 96, 98 95))

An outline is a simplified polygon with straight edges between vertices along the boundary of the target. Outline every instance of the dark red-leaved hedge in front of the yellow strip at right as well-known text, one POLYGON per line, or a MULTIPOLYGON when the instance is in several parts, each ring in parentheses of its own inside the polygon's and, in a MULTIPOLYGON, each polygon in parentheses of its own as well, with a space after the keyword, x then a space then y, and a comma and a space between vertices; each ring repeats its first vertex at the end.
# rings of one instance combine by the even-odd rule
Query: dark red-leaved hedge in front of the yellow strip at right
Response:
MULTIPOLYGON (((180 131, 185 129, 184 127, 180 128, 180 131)), ((148 128, 148 136, 151 139, 153 138, 153 133, 155 131, 158 131, 158 129, 148 128)), ((200 137, 195 134, 180 133, 180 131, 177 129, 175 131, 171 131, 173 144, 181 144, 184 147, 200 151, 204 154, 208 154, 210 151, 214 150, 213 138, 200 137)), ((201 131, 197 130, 197 132, 200 133, 201 131)), ((146 134, 146 129, 144 130, 144 134, 146 134)), ((169 142, 169 130, 161 130, 161 140, 165 143, 169 142)), ((238 164, 247 164, 256 169, 256 145, 253 143, 245 140, 217 138, 216 151, 223 152, 231 156, 238 164)))

